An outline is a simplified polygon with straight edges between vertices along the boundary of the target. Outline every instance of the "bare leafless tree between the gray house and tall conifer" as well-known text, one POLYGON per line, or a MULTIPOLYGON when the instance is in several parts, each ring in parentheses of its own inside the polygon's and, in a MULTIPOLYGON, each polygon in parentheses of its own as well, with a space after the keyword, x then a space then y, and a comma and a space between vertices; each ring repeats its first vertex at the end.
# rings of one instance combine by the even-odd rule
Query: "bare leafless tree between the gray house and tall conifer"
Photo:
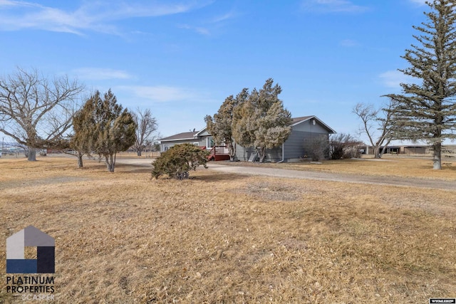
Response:
POLYGON ((393 140, 395 106, 394 100, 390 99, 386 108, 375 109, 373 105, 363 103, 358 103, 353 108, 353 113, 361 119, 360 132, 368 136, 375 158, 381 158, 393 140))

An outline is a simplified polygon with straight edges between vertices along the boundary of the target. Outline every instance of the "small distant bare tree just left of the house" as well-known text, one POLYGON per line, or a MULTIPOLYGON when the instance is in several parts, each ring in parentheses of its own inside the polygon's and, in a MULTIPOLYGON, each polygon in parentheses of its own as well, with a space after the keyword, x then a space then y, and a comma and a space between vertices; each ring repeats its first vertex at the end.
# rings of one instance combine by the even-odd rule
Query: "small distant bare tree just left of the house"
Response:
POLYGON ((132 115, 133 120, 135 120, 136 125, 138 125, 136 128, 136 141, 133 147, 135 147, 138 156, 141 156, 142 150, 144 150, 147 145, 151 145, 159 136, 155 132, 157 131, 157 120, 152 116, 150 109, 140 110, 140 108, 138 108, 132 115))

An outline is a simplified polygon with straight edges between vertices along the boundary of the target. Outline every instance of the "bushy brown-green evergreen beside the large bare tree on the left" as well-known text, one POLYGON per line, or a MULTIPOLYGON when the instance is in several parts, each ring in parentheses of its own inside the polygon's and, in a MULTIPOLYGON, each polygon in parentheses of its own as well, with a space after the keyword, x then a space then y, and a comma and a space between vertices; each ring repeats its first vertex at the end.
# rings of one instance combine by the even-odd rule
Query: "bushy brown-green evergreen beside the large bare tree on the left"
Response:
POLYGON ((81 144, 83 152, 93 151, 105 157, 108 171, 114 172, 116 154, 128 150, 135 143, 133 115, 117 103, 111 90, 105 93, 103 99, 96 91, 76 115, 76 122, 81 127, 75 129, 74 142, 81 144))

